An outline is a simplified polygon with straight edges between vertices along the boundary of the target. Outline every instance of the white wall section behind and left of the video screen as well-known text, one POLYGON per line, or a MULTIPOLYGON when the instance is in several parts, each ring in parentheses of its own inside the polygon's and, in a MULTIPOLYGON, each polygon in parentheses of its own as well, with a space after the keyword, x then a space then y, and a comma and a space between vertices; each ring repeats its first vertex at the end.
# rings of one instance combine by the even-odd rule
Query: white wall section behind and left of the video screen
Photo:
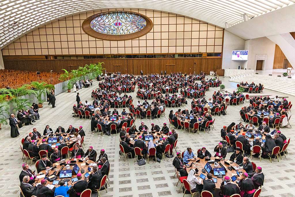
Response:
POLYGON ((224 30, 222 69, 237 69, 239 65, 243 67, 243 61, 233 61, 233 50, 244 50, 245 40, 224 30))

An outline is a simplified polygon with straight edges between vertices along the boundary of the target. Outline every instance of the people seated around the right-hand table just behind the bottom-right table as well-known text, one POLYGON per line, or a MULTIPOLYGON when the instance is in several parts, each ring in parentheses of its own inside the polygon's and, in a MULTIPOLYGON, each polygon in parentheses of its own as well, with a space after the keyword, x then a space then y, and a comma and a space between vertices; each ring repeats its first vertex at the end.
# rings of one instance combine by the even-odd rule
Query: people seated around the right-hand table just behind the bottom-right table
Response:
MULTIPOLYGON (((263 124, 260 125, 257 129, 255 129, 255 126, 252 122, 250 122, 248 126, 244 126, 241 122, 238 125, 235 125, 235 123, 231 123, 228 127, 223 126, 223 128, 221 129, 221 137, 223 140, 226 141, 225 136, 228 136, 230 144, 233 146, 235 146, 236 141, 240 141, 243 145, 243 150, 245 154, 248 155, 250 155, 250 151, 253 150, 253 146, 260 146, 262 150, 261 157, 263 158, 269 158, 269 156, 275 157, 271 155, 273 148, 275 146, 279 146, 281 151, 283 149, 284 144, 287 143, 286 136, 279 130, 278 126, 276 126, 276 128, 272 132, 270 132, 270 129, 265 122, 263 122, 263 124), (256 130, 260 132, 262 136, 264 135, 263 133, 266 133, 265 142, 263 142, 262 139, 260 139, 258 136, 255 137, 255 140, 246 138, 245 133, 242 133, 237 137, 237 135, 235 135, 235 132, 241 130, 256 130)), ((283 155, 284 152, 281 152, 280 154, 283 155)), ((259 157, 259 155, 259 153, 253 153, 254 157, 259 157)))

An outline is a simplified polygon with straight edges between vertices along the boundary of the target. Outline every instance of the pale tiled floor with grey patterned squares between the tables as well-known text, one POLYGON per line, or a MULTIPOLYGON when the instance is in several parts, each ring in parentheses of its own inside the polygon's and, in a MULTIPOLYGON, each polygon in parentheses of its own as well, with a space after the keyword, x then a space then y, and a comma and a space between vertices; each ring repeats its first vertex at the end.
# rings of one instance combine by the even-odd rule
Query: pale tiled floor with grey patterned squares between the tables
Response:
MULTIPOLYGON (((235 88, 236 84, 228 82, 229 78, 221 78, 227 88, 235 88)), ((79 90, 82 101, 91 100, 92 88, 97 86, 97 82, 93 87, 83 88, 79 90)), ((209 92, 206 92, 206 97, 211 97, 213 91, 217 88, 210 88, 209 92)), ((275 94, 275 93, 274 93, 275 94)), ((135 93, 131 94, 135 97, 135 93)), ((25 126, 20 129, 21 135, 18 138, 10 138, 9 126, 3 126, 0 136, 0 195, 1 196, 18 196, 19 190, 19 173, 21 171, 21 165, 23 163, 21 157, 22 154, 19 150, 19 144, 21 144, 22 137, 26 136, 32 128, 36 127, 38 131, 43 132, 45 125, 49 124, 52 129, 56 129, 59 125, 67 128, 68 125, 78 127, 83 126, 86 132, 85 146, 93 146, 94 149, 100 150, 106 149, 106 153, 109 157, 111 164, 111 172, 109 175, 111 186, 107 188, 108 193, 101 193, 102 196, 107 197, 158 197, 158 196, 179 196, 181 197, 182 191, 178 193, 179 185, 176 187, 177 178, 173 178, 174 167, 172 166, 172 158, 165 158, 160 163, 156 163, 151 159, 150 164, 144 166, 138 166, 132 159, 124 161, 119 157, 119 136, 101 136, 90 133, 90 120, 79 120, 72 117, 72 105, 76 103, 76 93, 64 92, 56 96, 57 108, 51 108, 44 103, 44 108, 40 109, 41 119, 32 126, 25 126)), ((291 102, 295 102, 295 97, 290 96, 288 98, 291 102)), ((134 103, 137 102, 135 97, 134 103)), ((188 99, 187 108, 190 108, 191 99, 188 99)), ((246 103, 245 105, 248 105, 246 103)), ((186 108, 186 107, 182 107, 186 108)), ((113 109, 111 109, 113 110, 113 109)), ((145 124, 150 127, 150 124, 154 122, 160 127, 164 122, 168 122, 168 114, 171 108, 166 109, 166 116, 160 119, 144 120, 145 124)), ((174 111, 176 108, 173 109, 174 111)), ((220 141, 220 129, 223 125, 229 125, 232 122, 239 122, 240 106, 230 106, 227 110, 228 115, 215 117, 214 127, 215 129, 209 132, 200 132, 200 134, 189 134, 188 131, 177 130, 179 134, 179 144, 177 146, 178 151, 183 151, 187 147, 192 147, 194 152, 202 146, 206 146, 207 149, 213 153, 214 146, 220 141)), ((119 109, 119 112, 122 108, 119 109)), ((290 115, 290 113, 289 113, 290 115)), ((292 120, 292 119, 291 119, 292 120)), ((140 120, 136 120, 136 125, 139 126, 140 120)), ((294 121, 291 121, 294 125, 294 121)), ((294 129, 283 128, 281 131, 287 138, 294 139, 294 129)), ((283 160, 277 162, 274 160, 272 163, 268 159, 254 159, 257 165, 262 166, 263 173, 266 175, 265 186, 262 189, 260 196, 294 196, 295 195, 295 147, 293 144, 289 145, 289 154, 287 157, 283 157, 283 160)), ((227 156, 229 158, 230 155, 227 156)), ((34 165, 31 169, 34 169, 34 165)), ((93 194, 92 196, 97 196, 93 194)), ((189 195, 186 195, 189 196, 189 195)))

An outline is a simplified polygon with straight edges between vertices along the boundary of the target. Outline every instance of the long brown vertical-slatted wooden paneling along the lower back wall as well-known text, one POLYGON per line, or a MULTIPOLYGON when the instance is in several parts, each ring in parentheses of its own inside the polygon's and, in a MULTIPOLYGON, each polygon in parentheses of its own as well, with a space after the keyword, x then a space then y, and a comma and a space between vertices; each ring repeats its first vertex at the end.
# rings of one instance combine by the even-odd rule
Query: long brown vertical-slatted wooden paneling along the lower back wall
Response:
POLYGON ((103 67, 107 72, 118 72, 122 74, 160 73, 166 70, 171 72, 209 73, 211 70, 221 69, 222 58, 122 58, 122 59, 63 59, 63 60, 4 60, 5 69, 29 70, 40 72, 62 73, 62 69, 68 71, 77 69, 85 64, 104 62, 103 67), (196 64, 194 64, 196 63, 196 64), (121 65, 121 66, 118 66, 121 65))

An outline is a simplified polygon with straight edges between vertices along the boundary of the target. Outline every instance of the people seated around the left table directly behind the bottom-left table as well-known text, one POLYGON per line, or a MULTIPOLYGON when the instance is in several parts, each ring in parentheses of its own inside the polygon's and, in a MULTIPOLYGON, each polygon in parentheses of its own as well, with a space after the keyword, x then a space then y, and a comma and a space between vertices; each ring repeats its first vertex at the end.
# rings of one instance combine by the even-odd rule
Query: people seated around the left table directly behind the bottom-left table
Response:
POLYGON ((56 131, 53 133, 53 130, 49 127, 49 125, 46 125, 43 135, 39 131, 37 131, 37 128, 33 128, 33 131, 28 134, 24 138, 24 142, 22 149, 27 150, 30 157, 37 157, 35 160, 40 158, 39 151, 45 150, 47 154, 50 156, 51 162, 55 162, 57 159, 60 160, 65 155, 61 155, 61 149, 65 146, 69 146, 73 143, 78 143, 79 146, 81 146, 82 137, 85 136, 85 132, 83 130, 83 126, 79 126, 79 129, 74 128, 72 125, 69 126, 68 130, 65 131, 65 129, 62 126, 59 126, 56 131), (58 141, 59 145, 55 146, 53 149, 49 144, 46 142, 45 137, 50 134, 71 134, 74 135, 73 138, 67 139, 67 137, 63 137, 63 139, 60 139, 58 141), (41 138, 44 138, 41 140, 41 138), (39 141, 39 144, 37 142, 39 141))

